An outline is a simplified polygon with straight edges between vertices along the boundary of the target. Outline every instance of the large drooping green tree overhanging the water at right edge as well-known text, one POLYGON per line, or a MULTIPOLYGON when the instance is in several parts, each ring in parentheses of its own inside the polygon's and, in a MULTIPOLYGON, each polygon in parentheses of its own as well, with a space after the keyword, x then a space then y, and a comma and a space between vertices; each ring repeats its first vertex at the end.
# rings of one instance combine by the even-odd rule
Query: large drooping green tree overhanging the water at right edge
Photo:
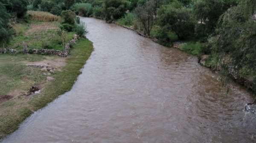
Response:
MULTIPOLYGON (((252 1, 241 1, 239 6, 229 8, 221 16, 216 35, 209 39, 209 45, 212 53, 226 59, 221 62, 224 76, 232 73, 250 79, 256 85, 256 19, 254 11, 245 8, 244 3, 248 2, 252 1)), ((249 7, 255 4, 251 3, 249 7)), ((256 91, 255 86, 252 88, 256 91)))

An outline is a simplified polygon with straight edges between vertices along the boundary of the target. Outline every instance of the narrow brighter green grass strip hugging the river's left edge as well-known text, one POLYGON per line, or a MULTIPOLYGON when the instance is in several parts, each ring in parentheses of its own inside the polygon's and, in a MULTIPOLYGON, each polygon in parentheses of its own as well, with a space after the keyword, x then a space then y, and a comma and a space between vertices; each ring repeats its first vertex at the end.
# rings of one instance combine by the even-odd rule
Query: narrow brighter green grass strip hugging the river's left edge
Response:
POLYGON ((63 68, 64 71, 56 73, 54 76, 55 80, 48 84, 42 95, 35 97, 35 100, 32 100, 30 104, 36 107, 35 109, 40 109, 58 97, 58 95, 69 91, 92 51, 93 45, 88 39, 79 40, 73 46, 70 56, 66 60, 66 66, 63 68))

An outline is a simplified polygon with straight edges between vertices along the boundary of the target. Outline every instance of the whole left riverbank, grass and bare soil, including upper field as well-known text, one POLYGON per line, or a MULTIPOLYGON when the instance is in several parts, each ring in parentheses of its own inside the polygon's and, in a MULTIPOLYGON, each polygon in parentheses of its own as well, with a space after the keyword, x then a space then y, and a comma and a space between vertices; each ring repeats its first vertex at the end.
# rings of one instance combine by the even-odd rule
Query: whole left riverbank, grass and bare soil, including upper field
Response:
MULTIPOLYGON (((28 53, 44 46, 62 51, 61 39, 56 35, 59 25, 35 21, 13 25, 16 34, 6 48, 17 53, 0 54, 0 139, 18 129, 33 112, 69 91, 90 57, 93 44, 86 38, 73 43, 67 57, 23 53, 25 46, 28 53)), ((67 41, 73 35, 68 32, 67 41)))

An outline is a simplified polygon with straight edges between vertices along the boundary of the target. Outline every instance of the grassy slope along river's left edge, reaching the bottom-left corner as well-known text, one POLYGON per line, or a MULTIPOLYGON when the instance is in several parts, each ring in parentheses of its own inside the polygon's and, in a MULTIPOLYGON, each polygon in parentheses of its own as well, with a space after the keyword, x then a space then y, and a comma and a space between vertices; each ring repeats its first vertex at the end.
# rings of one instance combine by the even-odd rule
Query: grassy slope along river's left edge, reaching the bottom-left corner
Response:
POLYGON ((63 71, 55 73, 53 76, 55 80, 48 82, 40 94, 28 100, 20 96, 1 103, 0 138, 14 132, 19 124, 32 114, 32 111, 44 107, 58 95, 69 91, 92 51, 92 42, 88 39, 80 39, 73 46, 63 71))

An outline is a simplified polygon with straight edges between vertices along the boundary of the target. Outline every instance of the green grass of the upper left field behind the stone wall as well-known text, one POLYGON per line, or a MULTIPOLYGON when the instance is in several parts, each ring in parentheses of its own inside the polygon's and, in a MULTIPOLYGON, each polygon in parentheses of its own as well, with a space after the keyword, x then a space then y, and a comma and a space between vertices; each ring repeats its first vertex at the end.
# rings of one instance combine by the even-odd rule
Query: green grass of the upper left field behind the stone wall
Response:
MULTIPOLYGON (((12 42, 10 42, 7 45, 7 48, 13 48, 17 49, 18 51, 23 50, 23 42, 25 42, 28 45, 27 50, 29 49, 42 49, 44 48, 43 45, 47 43, 47 47, 50 49, 55 50, 63 50, 63 47, 61 45, 61 38, 57 34, 58 32, 58 22, 35 22, 30 21, 29 24, 16 24, 14 25, 14 29, 16 31, 16 34, 12 37, 12 42), (32 31, 30 33, 26 33, 30 28, 29 25, 40 26, 42 24, 47 24, 50 27, 55 27, 56 29, 49 29, 44 30, 44 28, 41 28, 41 31, 32 31)), ((73 38, 73 32, 69 32, 67 34, 68 40, 71 40, 73 38)))

